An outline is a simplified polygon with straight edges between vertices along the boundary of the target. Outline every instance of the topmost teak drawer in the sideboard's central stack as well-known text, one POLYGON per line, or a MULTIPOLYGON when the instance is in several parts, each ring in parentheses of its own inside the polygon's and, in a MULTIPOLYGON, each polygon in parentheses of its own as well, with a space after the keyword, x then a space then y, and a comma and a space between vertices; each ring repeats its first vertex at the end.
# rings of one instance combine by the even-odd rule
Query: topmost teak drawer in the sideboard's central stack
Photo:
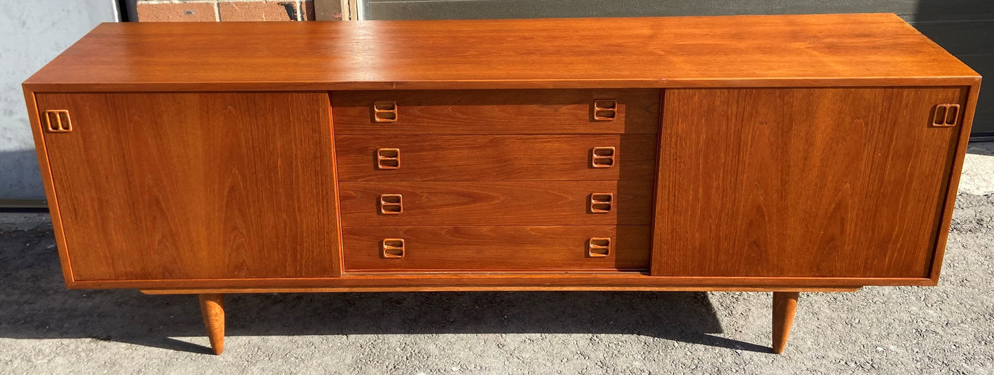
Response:
POLYGON ((331 105, 337 134, 656 133, 660 94, 651 89, 334 92, 331 105))

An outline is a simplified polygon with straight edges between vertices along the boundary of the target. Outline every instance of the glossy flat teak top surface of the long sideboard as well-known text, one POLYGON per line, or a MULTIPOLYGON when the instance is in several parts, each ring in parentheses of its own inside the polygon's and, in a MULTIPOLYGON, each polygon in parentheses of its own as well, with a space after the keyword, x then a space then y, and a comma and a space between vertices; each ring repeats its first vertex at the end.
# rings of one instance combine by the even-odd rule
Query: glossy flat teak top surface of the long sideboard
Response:
POLYGON ((893 14, 105 23, 34 92, 970 85, 893 14))

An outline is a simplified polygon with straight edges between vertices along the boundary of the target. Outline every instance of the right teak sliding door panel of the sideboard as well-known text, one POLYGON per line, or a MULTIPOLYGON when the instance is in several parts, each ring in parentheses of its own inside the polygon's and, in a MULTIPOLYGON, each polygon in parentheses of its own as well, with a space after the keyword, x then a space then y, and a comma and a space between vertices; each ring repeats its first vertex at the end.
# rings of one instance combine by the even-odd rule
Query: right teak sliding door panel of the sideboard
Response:
POLYGON ((667 91, 652 275, 927 278, 964 94, 667 91))

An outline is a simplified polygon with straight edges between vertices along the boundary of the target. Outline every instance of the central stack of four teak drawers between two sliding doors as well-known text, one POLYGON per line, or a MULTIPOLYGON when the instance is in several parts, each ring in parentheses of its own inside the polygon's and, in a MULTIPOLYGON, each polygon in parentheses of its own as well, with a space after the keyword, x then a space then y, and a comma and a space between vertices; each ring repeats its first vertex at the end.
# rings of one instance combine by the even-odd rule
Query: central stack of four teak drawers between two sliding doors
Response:
POLYGON ((344 271, 648 269, 658 90, 332 94, 344 271))

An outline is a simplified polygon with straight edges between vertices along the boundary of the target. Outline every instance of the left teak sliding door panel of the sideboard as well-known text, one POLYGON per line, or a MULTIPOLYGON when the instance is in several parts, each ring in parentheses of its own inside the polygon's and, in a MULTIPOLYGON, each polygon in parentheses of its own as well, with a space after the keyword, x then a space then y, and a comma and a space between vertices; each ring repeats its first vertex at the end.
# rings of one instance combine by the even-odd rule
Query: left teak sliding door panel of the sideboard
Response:
POLYGON ((340 274, 327 94, 37 96, 73 280, 340 274))

